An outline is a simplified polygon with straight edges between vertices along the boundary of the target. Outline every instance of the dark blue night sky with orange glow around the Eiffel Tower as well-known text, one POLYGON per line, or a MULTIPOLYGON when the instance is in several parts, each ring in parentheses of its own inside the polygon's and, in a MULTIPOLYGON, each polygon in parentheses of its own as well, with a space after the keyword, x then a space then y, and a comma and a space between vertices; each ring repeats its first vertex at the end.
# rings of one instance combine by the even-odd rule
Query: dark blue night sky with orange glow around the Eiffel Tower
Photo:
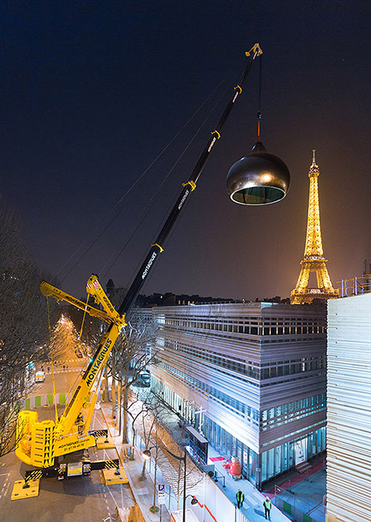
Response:
POLYGON ((128 286, 240 78, 244 52, 259 42, 262 141, 287 163, 289 193, 243 207, 226 191, 230 166, 256 141, 257 60, 141 293, 289 296, 304 253, 313 148, 333 286, 362 275, 371 258, 370 11, 354 1, 3 3, 0 194, 21 213, 40 268, 78 297, 93 272, 103 285, 128 286))

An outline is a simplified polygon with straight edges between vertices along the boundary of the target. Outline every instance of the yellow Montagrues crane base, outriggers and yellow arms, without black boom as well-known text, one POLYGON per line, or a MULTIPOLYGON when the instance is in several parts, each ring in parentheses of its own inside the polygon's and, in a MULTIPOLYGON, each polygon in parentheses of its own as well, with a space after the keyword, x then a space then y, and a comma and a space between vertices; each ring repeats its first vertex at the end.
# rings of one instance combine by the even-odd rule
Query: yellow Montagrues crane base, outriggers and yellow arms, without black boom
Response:
MULTIPOLYGON (((55 422, 52 420, 39 422, 36 411, 19 412, 18 436, 20 439, 16 455, 26 464, 42 468, 39 471, 27 471, 26 482, 29 479, 41 476, 57 475, 60 479, 69 476, 68 462, 65 461, 66 459, 63 456, 73 452, 80 453, 82 459, 81 474, 90 474, 92 469, 118 467, 119 465, 118 459, 92 462, 88 453, 84 450, 95 446, 97 436, 106 435, 104 430, 89 433, 99 390, 99 386, 96 386, 94 390, 93 385, 100 383, 110 350, 126 322, 124 316, 116 312, 96 275, 93 274, 89 278, 86 291, 94 296, 96 303, 103 306, 103 311, 73 298, 45 281, 41 283, 41 292, 44 295, 52 296, 58 301, 67 301, 86 311, 89 315, 108 323, 109 327, 88 370, 80 379, 75 393, 59 419, 56 418, 55 422)), ((76 462, 76 458, 74 462, 76 462)))

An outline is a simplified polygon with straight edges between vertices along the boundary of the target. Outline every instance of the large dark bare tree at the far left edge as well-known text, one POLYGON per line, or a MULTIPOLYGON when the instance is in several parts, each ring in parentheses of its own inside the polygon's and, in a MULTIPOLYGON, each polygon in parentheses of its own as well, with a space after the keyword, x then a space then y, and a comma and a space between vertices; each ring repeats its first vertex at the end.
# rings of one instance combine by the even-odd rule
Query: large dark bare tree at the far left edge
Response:
MULTIPOLYGON (((0 456, 16 443, 20 399, 32 385, 32 369, 48 357, 46 300, 39 269, 23 239, 14 210, 0 205, 0 456)), ((53 315, 54 305, 50 313, 53 315)), ((52 318, 53 320, 53 318, 52 318)))

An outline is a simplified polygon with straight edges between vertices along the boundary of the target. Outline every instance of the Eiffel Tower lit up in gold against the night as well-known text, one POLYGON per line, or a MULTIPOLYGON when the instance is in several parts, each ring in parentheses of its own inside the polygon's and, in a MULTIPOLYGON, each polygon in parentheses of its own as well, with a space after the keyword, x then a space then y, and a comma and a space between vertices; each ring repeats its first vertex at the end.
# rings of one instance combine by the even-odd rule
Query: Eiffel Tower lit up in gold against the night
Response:
POLYGON ((305 304, 311 303, 313 299, 335 299, 339 297, 339 290, 332 287, 326 268, 327 259, 324 258, 322 246, 318 200, 319 168, 316 164, 315 152, 313 150, 313 161, 308 172, 309 204, 304 258, 300 262, 302 268, 298 282, 291 292, 291 304, 305 304), (311 272, 316 273, 318 288, 308 288, 311 272))

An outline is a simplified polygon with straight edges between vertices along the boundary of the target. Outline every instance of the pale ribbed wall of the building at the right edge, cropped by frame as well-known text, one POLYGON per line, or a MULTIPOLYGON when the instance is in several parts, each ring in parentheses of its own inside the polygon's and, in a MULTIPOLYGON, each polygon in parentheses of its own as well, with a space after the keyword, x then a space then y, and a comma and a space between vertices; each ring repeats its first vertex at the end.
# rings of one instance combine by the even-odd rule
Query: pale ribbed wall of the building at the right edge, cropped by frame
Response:
POLYGON ((326 522, 371 513, 371 293, 328 302, 326 522))

